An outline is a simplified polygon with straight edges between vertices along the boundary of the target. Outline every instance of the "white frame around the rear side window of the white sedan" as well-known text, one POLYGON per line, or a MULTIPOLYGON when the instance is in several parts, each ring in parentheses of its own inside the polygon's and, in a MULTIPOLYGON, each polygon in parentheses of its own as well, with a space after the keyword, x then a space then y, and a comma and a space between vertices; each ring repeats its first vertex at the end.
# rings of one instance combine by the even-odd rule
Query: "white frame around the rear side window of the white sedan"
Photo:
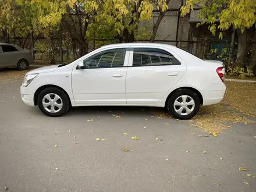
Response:
MULTIPOLYGON (((130 53, 129 53, 129 67, 164 67, 164 66, 182 66, 182 65, 185 64, 184 61, 183 61, 183 59, 180 58, 179 55, 175 54, 175 52, 173 52, 173 51, 170 51, 170 49, 166 49, 166 48, 164 48, 164 47, 141 47, 141 46, 131 46, 129 52, 130 52, 130 53), (149 65, 141 65, 141 66, 133 66, 133 54, 134 54, 134 51, 133 51, 133 50, 134 50, 135 48, 145 48, 145 49, 151 48, 151 49, 160 49, 160 50, 162 50, 162 51, 166 51, 166 52, 168 52, 169 54, 171 54, 173 57, 175 57, 175 58, 177 59, 177 61, 180 62, 180 64, 179 64, 179 65, 173 64, 173 65, 150 65, 150 66, 149 66, 149 65)), ((150 59, 151 59, 151 57, 150 57, 150 59)), ((141 60, 142 60, 142 56, 141 56, 141 60)), ((141 61, 141 63, 142 63, 142 61, 141 61)))

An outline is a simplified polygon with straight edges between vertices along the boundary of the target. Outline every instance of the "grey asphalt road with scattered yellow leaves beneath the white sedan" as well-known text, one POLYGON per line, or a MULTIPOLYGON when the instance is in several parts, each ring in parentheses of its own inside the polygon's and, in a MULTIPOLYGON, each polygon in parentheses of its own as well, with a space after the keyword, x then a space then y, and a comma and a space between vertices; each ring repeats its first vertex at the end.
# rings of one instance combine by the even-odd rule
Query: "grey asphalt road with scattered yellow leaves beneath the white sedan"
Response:
POLYGON ((256 191, 247 176, 256 176, 256 125, 198 137, 207 133, 152 117, 151 108, 73 108, 49 118, 23 104, 21 83, 0 82, 0 191, 256 191))

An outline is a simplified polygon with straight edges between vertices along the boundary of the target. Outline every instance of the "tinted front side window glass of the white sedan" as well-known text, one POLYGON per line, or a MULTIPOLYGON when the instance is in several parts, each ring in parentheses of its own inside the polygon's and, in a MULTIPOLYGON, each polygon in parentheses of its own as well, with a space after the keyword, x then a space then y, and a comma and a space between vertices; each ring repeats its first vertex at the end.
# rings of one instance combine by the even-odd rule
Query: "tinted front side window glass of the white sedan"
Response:
POLYGON ((123 67, 126 49, 112 49, 84 60, 86 69, 123 67))

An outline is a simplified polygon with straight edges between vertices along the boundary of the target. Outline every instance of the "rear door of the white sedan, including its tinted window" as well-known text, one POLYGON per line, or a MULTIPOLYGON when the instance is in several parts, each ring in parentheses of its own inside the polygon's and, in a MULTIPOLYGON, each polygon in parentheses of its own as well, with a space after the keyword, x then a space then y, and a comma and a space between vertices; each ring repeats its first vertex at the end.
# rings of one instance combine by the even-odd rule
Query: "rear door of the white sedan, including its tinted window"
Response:
POLYGON ((133 66, 127 69, 126 101, 129 105, 155 104, 186 72, 186 65, 167 52, 133 52, 133 66))

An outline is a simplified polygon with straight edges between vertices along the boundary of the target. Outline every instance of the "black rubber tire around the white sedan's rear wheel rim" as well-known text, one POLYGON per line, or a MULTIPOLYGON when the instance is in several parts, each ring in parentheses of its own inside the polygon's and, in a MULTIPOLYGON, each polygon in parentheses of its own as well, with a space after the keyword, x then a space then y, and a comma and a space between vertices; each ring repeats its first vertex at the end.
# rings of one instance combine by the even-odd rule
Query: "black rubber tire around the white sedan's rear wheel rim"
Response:
MULTIPOLYGON (((180 98, 180 99, 182 99, 182 98, 180 98)), ((195 94, 191 90, 180 89, 180 90, 177 90, 175 93, 173 93, 172 96, 169 98, 167 108, 168 108, 169 113, 172 114, 172 116, 176 119, 191 119, 191 118, 193 118, 193 116, 195 116, 197 114, 197 112, 200 108, 200 98, 198 97, 197 94, 195 94), (184 114, 181 115, 181 114, 177 113, 175 111, 175 106, 173 105, 174 102, 176 101, 176 99, 178 99, 182 95, 189 96, 189 97, 187 97, 188 102, 191 101, 190 98, 192 98, 194 100, 194 108, 192 105, 189 105, 189 108, 191 107, 190 109, 193 109, 193 111, 187 115, 184 115, 184 114)), ((176 109, 179 109, 179 106, 176 106, 176 109)), ((181 112, 183 113, 183 111, 186 111, 186 109, 184 109, 184 110, 182 109, 181 112)), ((184 113, 186 113, 186 112, 184 112, 184 113)))

